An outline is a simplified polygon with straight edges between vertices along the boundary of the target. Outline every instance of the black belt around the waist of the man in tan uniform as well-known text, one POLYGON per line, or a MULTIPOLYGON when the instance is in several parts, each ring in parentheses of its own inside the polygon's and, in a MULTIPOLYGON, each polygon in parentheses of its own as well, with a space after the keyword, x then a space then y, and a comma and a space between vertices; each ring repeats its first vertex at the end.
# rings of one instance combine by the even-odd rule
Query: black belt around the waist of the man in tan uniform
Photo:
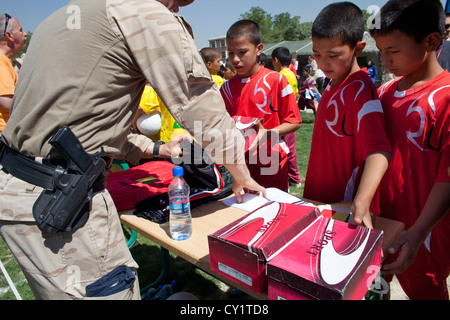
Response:
MULTIPOLYGON (((0 164, 3 171, 12 174, 20 180, 40 186, 44 189, 54 188, 53 176, 58 166, 67 167, 63 159, 42 159, 43 163, 36 162, 34 158, 11 149, 0 140, 0 164)), ((100 175, 93 184, 93 191, 100 192, 106 188, 106 178, 100 175)))

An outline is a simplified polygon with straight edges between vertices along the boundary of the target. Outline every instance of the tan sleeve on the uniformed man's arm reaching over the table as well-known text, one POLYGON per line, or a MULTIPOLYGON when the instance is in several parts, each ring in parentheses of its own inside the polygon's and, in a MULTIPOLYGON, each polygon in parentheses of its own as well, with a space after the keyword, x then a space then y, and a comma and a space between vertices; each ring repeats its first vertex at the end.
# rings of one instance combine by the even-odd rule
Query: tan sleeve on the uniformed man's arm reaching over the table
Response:
POLYGON ((175 120, 217 163, 241 161, 243 136, 228 115, 185 20, 157 1, 108 3, 113 29, 126 41, 175 120), (213 135, 216 139, 211 139, 213 135))

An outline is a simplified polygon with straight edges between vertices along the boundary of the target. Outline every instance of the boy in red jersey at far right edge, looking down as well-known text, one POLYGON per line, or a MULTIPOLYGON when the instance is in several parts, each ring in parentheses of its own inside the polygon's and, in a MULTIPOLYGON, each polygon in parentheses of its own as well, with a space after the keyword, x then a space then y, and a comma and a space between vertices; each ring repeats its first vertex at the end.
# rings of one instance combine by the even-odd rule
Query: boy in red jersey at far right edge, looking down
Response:
POLYGON ((371 29, 383 65, 400 78, 379 89, 392 159, 380 185, 382 215, 405 223, 383 267, 410 299, 448 300, 450 75, 435 50, 445 16, 438 0, 388 1, 371 29), (410 23, 414 21, 414 23, 410 23))

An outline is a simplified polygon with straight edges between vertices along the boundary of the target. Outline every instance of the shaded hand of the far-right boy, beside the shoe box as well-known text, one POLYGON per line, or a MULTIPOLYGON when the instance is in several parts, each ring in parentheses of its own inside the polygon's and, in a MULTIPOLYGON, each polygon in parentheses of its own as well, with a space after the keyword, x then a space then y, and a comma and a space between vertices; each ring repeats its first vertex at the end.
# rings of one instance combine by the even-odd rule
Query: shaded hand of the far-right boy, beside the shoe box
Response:
POLYGON ((398 274, 404 272, 414 262, 421 241, 414 232, 406 230, 401 232, 389 247, 389 254, 398 252, 397 259, 383 266, 383 273, 398 274))

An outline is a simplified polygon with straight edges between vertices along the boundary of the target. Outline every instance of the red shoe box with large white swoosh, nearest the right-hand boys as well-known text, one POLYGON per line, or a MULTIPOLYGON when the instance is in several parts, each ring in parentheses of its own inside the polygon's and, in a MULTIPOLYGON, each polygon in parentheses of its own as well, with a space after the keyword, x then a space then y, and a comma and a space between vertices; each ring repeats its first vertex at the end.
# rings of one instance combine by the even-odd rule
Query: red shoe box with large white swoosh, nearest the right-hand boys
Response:
POLYGON ((322 215, 268 262, 269 299, 363 299, 380 270, 382 240, 383 231, 322 215))

